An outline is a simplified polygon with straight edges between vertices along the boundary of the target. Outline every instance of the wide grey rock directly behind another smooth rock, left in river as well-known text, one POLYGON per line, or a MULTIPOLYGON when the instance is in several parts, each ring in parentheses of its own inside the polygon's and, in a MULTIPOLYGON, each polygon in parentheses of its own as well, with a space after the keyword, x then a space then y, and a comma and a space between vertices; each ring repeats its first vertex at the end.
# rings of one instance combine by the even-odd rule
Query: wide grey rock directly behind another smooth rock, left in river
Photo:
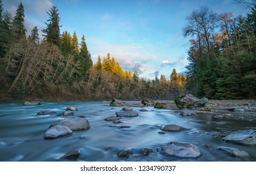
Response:
POLYGON ((87 130, 90 127, 88 120, 85 117, 70 117, 62 121, 55 122, 50 127, 55 125, 67 126, 72 131, 87 130))

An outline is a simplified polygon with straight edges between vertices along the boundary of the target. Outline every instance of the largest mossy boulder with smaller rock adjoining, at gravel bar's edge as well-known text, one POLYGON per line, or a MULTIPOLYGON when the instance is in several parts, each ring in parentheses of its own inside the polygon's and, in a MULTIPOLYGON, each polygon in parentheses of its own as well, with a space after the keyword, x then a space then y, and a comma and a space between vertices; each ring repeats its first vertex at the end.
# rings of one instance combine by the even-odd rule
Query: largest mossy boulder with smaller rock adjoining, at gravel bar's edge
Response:
POLYGON ((175 102, 176 106, 178 106, 179 109, 209 106, 209 101, 207 98, 198 99, 191 94, 179 95, 174 100, 174 102, 175 102))

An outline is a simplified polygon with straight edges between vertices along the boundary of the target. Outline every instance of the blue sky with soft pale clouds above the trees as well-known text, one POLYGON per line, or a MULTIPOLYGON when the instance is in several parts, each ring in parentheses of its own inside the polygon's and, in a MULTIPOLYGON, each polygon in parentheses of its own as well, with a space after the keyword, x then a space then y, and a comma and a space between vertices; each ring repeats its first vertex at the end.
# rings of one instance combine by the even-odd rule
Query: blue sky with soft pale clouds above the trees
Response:
POLYGON ((93 63, 98 55, 110 53, 123 70, 137 70, 148 79, 161 74, 169 79, 173 68, 186 71, 190 38, 183 37, 183 27, 194 9, 208 6, 218 14, 246 14, 233 0, 2 0, 12 16, 20 2, 27 35, 37 26, 41 36, 47 12, 56 6, 61 33, 76 32, 78 40, 85 35, 93 63))

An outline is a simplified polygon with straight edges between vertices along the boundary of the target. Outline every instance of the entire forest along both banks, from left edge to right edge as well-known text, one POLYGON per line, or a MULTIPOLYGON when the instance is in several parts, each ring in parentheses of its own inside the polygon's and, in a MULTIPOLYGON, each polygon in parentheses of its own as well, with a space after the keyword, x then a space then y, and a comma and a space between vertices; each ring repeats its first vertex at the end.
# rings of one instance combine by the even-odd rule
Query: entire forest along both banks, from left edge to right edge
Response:
POLYGON ((123 70, 110 53, 93 65, 84 35, 78 43, 75 31, 60 34, 56 6, 47 11, 40 39, 37 26, 30 34, 26 30, 22 3, 12 17, 0 0, 0 100, 174 99, 184 93, 255 98, 256 5, 251 5, 245 17, 216 14, 209 7, 192 11, 183 28, 184 37, 191 38, 187 72, 173 68, 171 76, 148 80, 123 70))

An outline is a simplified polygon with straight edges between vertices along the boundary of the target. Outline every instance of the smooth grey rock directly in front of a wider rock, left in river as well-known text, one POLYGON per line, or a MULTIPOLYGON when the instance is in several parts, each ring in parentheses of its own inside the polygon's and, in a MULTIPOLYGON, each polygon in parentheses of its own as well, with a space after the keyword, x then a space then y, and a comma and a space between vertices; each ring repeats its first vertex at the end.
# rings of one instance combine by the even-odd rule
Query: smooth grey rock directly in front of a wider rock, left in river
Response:
POLYGON ((58 137, 62 137, 64 135, 69 135, 72 133, 73 133, 73 131, 71 131, 69 129, 69 127, 62 126, 62 125, 56 125, 56 126, 50 127, 50 129, 48 129, 45 132, 44 138, 45 139, 56 139, 58 137))

